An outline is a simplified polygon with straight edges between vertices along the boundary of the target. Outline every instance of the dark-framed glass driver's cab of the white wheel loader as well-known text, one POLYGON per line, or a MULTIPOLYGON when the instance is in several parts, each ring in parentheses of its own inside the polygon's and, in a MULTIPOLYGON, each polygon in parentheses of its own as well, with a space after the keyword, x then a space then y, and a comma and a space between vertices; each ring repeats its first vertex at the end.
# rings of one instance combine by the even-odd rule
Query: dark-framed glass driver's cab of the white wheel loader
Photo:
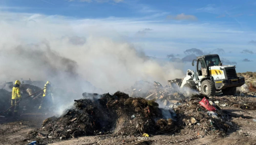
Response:
POLYGON ((220 64, 218 54, 202 55, 197 57, 197 76, 201 80, 203 77, 209 76, 209 67, 220 64))

